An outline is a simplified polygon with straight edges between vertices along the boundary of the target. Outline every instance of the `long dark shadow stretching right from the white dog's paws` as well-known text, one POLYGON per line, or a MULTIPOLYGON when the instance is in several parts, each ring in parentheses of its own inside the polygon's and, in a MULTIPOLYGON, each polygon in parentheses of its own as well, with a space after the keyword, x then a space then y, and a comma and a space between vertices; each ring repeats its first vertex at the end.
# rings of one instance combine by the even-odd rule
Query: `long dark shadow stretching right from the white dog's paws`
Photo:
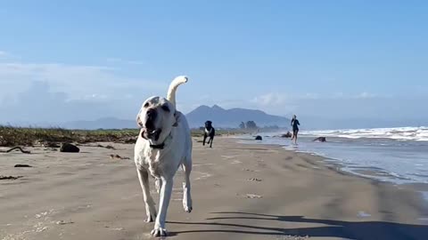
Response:
POLYGON ((309 237, 342 237, 348 239, 428 239, 428 225, 411 225, 393 223, 387 221, 342 221, 342 220, 318 220, 303 216, 276 216, 256 214, 249 212, 212 212, 220 217, 207 219, 206 222, 177 222, 171 224, 198 226, 194 230, 174 232, 175 236, 190 233, 230 233, 248 234, 257 236, 309 236, 309 237), (236 224, 234 220, 254 220, 252 225, 236 224), (292 223, 312 223, 321 225, 312 228, 276 228, 260 227, 269 225, 270 221, 284 222, 292 226, 292 223), (232 223, 230 223, 232 222, 232 223))

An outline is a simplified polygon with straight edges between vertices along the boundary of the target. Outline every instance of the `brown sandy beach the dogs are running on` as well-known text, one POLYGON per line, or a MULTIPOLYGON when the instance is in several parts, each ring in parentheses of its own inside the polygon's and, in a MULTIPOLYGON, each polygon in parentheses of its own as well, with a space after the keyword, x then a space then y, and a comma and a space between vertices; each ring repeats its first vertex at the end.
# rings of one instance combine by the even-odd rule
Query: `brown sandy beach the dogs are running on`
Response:
MULTIPOLYGON (((275 146, 194 143, 193 212, 183 211, 179 171, 170 239, 428 239, 426 205, 412 188, 344 174, 320 157, 275 146)), ((0 154, 0 175, 23 176, 0 180, 0 239, 151 238, 134 146, 111 145, 0 154)))

